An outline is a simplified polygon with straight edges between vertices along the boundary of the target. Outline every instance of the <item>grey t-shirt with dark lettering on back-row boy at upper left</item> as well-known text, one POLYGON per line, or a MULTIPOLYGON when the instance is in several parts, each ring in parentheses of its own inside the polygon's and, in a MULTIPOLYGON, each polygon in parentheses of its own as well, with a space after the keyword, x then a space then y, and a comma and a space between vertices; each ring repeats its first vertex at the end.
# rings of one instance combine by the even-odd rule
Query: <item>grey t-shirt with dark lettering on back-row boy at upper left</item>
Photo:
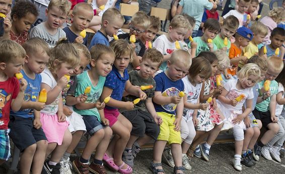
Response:
POLYGON ((66 37, 66 34, 61 28, 57 28, 57 32, 54 35, 49 34, 43 22, 31 30, 30 38, 32 37, 42 38, 49 45, 49 47, 54 47, 58 39, 61 37, 66 37))

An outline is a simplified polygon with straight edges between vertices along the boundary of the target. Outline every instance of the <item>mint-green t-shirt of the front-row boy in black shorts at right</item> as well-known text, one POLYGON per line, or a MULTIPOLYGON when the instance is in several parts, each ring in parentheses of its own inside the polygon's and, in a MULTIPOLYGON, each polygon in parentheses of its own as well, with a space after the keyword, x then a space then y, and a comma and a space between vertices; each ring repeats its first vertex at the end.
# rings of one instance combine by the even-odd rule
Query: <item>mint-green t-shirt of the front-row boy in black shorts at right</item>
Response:
MULTIPOLYGON (((265 82, 265 80, 258 83, 258 89, 261 89, 263 87, 264 82, 265 82)), ((270 83, 271 96, 273 94, 277 94, 277 92, 278 92, 278 82, 276 82, 275 80, 272 80, 270 83)), ((266 112, 269 109, 269 102, 270 102, 271 96, 266 98, 266 100, 264 100, 260 103, 257 103, 255 105, 255 108, 259 111, 266 112)))

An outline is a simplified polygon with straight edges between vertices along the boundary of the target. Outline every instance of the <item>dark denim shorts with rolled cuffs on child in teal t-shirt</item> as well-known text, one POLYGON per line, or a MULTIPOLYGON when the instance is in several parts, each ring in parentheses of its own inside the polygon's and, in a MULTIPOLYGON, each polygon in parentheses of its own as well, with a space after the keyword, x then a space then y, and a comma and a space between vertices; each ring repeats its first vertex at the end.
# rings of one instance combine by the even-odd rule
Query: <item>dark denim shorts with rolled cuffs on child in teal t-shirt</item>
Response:
POLYGON ((86 126, 86 130, 90 136, 105 127, 101 122, 98 121, 96 116, 82 115, 82 117, 86 126))

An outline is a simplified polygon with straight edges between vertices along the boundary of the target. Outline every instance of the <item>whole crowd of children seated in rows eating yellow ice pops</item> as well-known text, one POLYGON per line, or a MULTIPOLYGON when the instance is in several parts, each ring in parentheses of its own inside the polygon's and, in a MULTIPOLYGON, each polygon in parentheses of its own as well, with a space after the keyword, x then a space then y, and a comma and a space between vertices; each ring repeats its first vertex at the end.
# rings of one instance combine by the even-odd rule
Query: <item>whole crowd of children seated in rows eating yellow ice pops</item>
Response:
POLYGON ((222 17, 219 1, 174 0, 168 32, 156 37, 161 21, 148 15, 159 2, 143 1, 130 18, 112 0, 21 0, 13 8, 0 0, 0 164, 11 138, 21 173, 104 174, 106 165, 128 174, 154 141, 152 172, 165 173, 164 158, 184 173, 191 157, 208 161, 229 130, 236 170, 261 155, 281 161, 285 1, 259 20, 257 0, 239 0, 222 17), (118 34, 123 26, 129 33, 118 34), (89 27, 98 28, 90 43, 89 27))

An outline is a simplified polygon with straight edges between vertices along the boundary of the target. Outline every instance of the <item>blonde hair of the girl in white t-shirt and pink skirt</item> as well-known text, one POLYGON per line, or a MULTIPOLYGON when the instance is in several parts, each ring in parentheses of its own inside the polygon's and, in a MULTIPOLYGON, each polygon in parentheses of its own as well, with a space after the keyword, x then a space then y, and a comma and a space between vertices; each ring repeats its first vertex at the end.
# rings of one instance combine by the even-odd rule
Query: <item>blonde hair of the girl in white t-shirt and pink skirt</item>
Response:
MULTIPOLYGON (((74 44, 69 43, 67 38, 60 38, 56 46, 51 49, 50 58, 48 61, 48 68, 55 71, 61 63, 67 63, 72 67, 76 67, 80 64, 80 56, 76 50, 74 44), (59 65, 54 67, 54 61, 58 60, 59 65)), ((55 72, 53 72, 55 73, 55 72)))

